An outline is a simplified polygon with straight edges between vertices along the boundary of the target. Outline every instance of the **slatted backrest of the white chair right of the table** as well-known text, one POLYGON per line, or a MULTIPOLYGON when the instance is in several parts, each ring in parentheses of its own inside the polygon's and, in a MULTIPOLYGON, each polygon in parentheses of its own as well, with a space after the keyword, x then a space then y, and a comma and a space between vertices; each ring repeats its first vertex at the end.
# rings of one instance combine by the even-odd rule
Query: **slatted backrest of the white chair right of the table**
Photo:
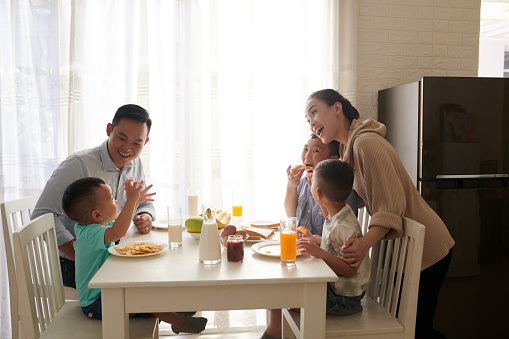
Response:
POLYGON ((367 294, 397 318, 405 332, 415 333, 417 296, 424 246, 424 226, 403 218, 403 235, 372 248, 367 294))

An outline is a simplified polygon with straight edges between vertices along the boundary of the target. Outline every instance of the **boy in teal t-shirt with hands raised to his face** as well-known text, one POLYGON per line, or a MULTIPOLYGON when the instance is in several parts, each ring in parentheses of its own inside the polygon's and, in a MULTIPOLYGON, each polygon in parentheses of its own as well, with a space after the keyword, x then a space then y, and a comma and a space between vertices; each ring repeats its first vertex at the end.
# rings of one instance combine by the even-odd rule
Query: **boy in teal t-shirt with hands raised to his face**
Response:
MULTIPOLYGON (((109 256, 108 248, 125 236, 138 204, 153 201, 155 193, 148 193, 152 185, 143 188, 143 181, 125 182, 127 200, 120 214, 111 188, 102 179, 82 178, 67 186, 62 196, 65 213, 77 223, 74 226, 76 242, 76 288, 78 304, 89 318, 102 319, 101 289, 88 288, 88 283, 109 256)), ((175 312, 131 313, 129 317, 154 316, 172 325, 175 333, 200 333, 207 319, 175 312)))

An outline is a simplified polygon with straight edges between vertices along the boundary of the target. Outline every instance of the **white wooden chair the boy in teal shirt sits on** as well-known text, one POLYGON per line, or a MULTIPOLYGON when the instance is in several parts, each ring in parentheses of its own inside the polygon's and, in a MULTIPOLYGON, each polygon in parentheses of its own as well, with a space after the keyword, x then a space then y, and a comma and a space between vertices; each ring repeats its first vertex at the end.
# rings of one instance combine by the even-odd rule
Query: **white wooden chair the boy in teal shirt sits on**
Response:
MULTIPOLYGON (((102 322, 87 318, 77 301, 66 301, 53 215, 13 233, 23 338, 101 338, 102 322)), ((133 318, 131 337, 157 338, 157 318, 133 318)))

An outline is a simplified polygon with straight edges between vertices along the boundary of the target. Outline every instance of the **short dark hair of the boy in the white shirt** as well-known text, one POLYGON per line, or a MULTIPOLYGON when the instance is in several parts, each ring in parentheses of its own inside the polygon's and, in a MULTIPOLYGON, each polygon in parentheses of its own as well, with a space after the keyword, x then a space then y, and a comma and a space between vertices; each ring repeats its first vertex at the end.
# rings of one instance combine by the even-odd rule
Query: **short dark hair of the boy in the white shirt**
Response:
POLYGON ((346 201, 353 186, 353 169, 348 163, 338 159, 322 160, 313 171, 313 181, 323 195, 330 201, 346 201))

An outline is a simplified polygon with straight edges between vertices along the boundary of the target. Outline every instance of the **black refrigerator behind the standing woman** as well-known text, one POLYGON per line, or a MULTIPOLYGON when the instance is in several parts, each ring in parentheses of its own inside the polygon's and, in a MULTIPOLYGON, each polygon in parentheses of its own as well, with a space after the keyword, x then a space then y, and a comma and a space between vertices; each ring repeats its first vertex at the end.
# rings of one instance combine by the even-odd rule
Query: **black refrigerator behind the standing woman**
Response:
POLYGON ((509 316, 509 79, 424 77, 378 92, 378 120, 456 241, 435 327, 499 338, 509 316))

